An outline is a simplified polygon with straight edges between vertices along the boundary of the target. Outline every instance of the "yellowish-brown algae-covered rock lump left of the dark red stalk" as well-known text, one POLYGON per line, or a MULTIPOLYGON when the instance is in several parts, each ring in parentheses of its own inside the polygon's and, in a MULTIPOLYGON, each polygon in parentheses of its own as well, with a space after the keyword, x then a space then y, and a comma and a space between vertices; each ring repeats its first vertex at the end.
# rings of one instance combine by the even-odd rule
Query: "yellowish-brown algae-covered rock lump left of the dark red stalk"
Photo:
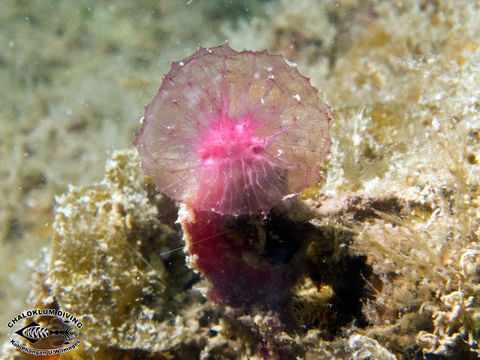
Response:
POLYGON ((84 343, 160 352, 193 341, 198 321, 176 316, 191 273, 159 255, 178 247, 176 209, 144 185, 135 152, 115 152, 102 182, 70 186, 56 202, 48 281, 60 308, 82 319, 84 343))

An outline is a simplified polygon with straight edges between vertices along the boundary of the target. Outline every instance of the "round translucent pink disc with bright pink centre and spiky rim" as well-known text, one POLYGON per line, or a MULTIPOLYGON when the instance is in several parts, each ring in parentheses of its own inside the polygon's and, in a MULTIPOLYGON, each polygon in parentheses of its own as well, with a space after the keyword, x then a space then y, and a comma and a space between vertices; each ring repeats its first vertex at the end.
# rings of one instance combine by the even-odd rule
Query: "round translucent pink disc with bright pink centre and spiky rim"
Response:
POLYGON ((197 210, 255 214, 320 180, 331 119, 282 56, 225 44, 173 63, 134 144, 167 196, 197 210))

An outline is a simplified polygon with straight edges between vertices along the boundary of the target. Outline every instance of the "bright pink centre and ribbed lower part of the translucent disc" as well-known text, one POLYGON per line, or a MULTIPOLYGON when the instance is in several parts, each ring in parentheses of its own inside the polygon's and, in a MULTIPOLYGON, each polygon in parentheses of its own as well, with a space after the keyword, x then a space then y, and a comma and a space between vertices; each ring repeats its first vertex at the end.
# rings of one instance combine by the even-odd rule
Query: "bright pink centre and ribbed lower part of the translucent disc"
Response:
POLYGON ((269 210, 286 191, 285 168, 268 154, 266 137, 256 136, 259 126, 245 117, 214 120, 200 131, 196 154, 201 179, 194 195, 194 207, 218 209, 226 213, 250 213, 251 209, 269 210))

